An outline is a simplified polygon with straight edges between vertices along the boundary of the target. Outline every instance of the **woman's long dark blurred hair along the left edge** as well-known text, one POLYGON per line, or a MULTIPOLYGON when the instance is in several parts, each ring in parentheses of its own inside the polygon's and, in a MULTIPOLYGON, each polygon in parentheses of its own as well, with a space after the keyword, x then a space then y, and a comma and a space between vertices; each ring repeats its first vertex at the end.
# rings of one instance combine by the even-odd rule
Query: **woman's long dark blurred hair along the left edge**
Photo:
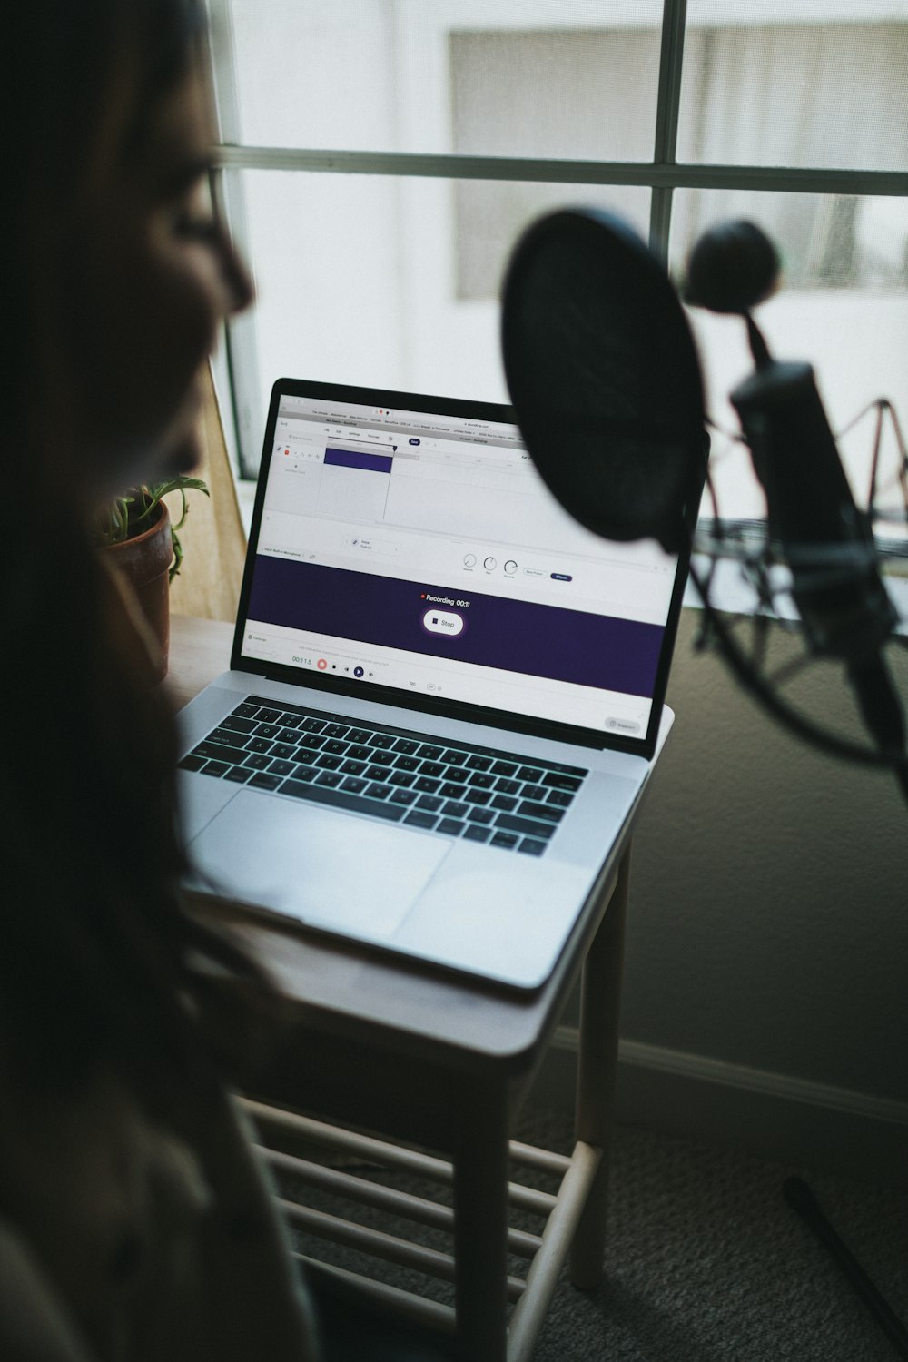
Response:
POLYGON ((4 27, 0 306, 16 357, 0 422, 0 1060, 59 1084, 98 1062, 215 1061, 214 977, 261 978, 180 903, 174 725, 74 509, 54 330, 82 178, 114 114, 140 146, 193 60, 199 7, 22 0, 4 27))

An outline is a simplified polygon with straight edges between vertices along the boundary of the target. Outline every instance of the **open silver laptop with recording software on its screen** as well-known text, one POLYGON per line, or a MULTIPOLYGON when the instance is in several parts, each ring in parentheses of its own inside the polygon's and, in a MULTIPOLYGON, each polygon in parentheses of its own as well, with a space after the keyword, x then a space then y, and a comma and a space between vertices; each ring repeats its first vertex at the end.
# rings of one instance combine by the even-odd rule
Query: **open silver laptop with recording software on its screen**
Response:
POLYGON ((647 782, 686 563, 588 533, 510 407, 275 383, 192 884, 531 990, 647 782))

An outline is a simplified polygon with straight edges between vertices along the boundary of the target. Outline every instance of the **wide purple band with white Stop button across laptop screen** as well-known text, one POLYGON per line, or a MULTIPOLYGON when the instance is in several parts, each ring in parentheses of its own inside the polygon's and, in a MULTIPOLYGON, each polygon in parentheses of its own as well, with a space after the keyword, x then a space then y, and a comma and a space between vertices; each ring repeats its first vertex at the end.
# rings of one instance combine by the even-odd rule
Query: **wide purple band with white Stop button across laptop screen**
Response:
POLYGON ((248 618, 645 697, 664 633, 636 620, 267 554, 256 557, 248 618))

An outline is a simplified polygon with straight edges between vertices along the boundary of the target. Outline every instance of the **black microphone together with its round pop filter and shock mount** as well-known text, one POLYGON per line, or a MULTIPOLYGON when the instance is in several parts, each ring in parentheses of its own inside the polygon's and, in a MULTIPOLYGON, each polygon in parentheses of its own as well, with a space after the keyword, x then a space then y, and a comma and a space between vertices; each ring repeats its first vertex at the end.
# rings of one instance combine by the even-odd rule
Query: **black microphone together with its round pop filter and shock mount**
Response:
MULTIPOLYGON (((837 756, 893 767, 908 795, 901 706, 885 665, 897 617, 870 516, 851 494, 813 370, 773 360, 751 317, 779 272, 775 247, 750 222, 708 232, 687 266, 687 301, 738 315, 747 327, 756 368, 732 402, 768 501, 760 552, 719 519, 694 541, 712 564, 704 575, 690 563, 704 607, 700 637, 716 643, 741 684, 791 733, 837 756), (721 556, 741 563, 760 594, 753 655, 712 602, 721 556), (762 622, 768 609, 781 613, 773 603, 780 577, 800 614, 806 656, 844 666, 873 748, 814 723, 765 671, 762 622)), ((709 440, 697 349, 664 263, 600 210, 540 218, 505 275, 502 357, 517 425, 555 500, 606 539, 651 537, 686 560, 709 440)))

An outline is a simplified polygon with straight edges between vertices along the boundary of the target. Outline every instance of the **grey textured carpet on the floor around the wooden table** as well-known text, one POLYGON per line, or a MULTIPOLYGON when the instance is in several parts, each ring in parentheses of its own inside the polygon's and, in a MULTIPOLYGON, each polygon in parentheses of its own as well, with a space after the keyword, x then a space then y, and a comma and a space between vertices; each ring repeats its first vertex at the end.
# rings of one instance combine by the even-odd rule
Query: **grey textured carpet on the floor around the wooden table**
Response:
MULTIPOLYGON (((561 1114, 530 1110, 516 1133, 566 1151, 570 1124, 561 1114)), ((562 1280, 534 1362, 892 1362, 897 1354, 785 1203, 781 1186, 795 1171, 908 1321, 908 1192, 621 1126, 613 1150, 606 1278, 592 1294, 562 1280)), ((418 1179, 388 1173, 380 1179, 441 1200, 437 1186, 418 1179)), ((551 1186, 525 1169, 519 1179, 551 1186)), ((294 1190, 299 1200, 325 1204, 294 1190)), ((377 1214, 358 1211, 357 1218, 403 1230, 377 1214)), ((532 1218, 515 1223, 538 1229, 532 1218)), ((441 1234, 418 1237, 449 1248, 441 1234)), ((313 1249, 306 1241, 299 1246, 313 1249)), ((355 1254, 334 1246, 321 1245, 316 1253, 361 1265, 355 1254)), ((525 1264, 515 1260, 513 1269, 523 1275, 525 1264)), ((441 1283, 393 1268, 385 1276, 436 1299, 449 1298, 441 1283)))

